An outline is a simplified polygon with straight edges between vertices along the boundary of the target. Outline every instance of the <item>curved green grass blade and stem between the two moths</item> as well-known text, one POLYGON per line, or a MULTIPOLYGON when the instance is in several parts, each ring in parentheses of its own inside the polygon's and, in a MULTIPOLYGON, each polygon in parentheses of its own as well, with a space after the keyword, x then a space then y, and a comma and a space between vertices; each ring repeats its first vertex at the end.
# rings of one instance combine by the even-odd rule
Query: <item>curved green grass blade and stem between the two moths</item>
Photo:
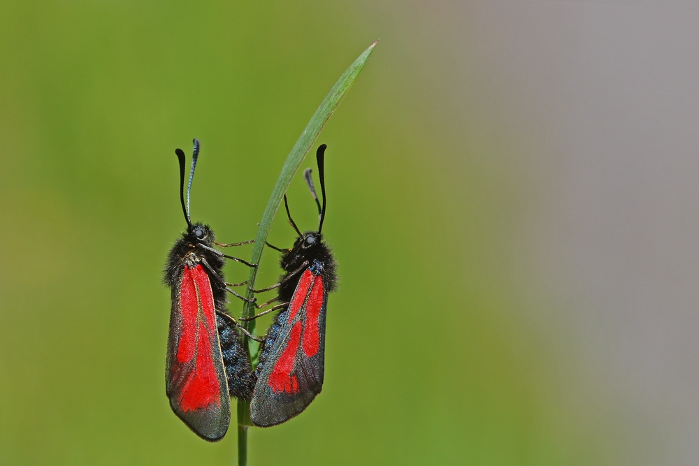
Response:
MULTIPOLYGON (((310 151, 313 143, 318 138, 318 135, 325 124, 328 122, 333 112, 338 108, 338 105, 343 101, 349 88, 352 87, 354 80, 359 75, 359 72, 366 64, 369 59, 371 52, 373 52, 375 45, 379 41, 369 45, 369 47, 362 52, 359 57, 354 60, 354 63, 349 65, 349 68, 340 76, 340 79, 335 83, 333 88, 330 90, 328 95, 325 97, 323 102, 315 111, 315 114, 310 119, 310 122, 306 125, 301 136, 296 140, 296 144, 291 148, 291 152, 287 156, 286 161, 284 161, 284 166, 282 167, 282 173, 279 174, 277 183, 274 185, 272 190, 272 195, 267 202, 267 207, 262 214, 262 219, 257 229, 257 236, 255 237, 254 248, 252 249, 252 259, 250 260, 254 264, 259 264, 262 257, 262 250, 264 249, 265 242, 267 240, 267 235, 269 233, 269 228, 272 226, 272 220, 274 215, 277 213, 280 204, 282 203, 282 198, 284 193, 287 192, 291 180, 294 178, 298 167, 303 163, 308 151, 310 151)), ((246 298, 252 298, 253 293, 250 289, 254 288, 255 278, 257 277, 257 267, 250 268, 250 277, 247 280, 248 289, 245 295, 246 298)), ((243 305, 243 318, 250 318, 255 314, 255 307, 251 303, 245 303, 243 305)), ((255 335, 255 321, 245 321, 243 323, 245 329, 249 331, 252 335, 255 335)), ((258 344, 254 340, 243 336, 243 346, 247 349, 248 355, 251 357, 251 362, 257 363, 257 351, 258 344), (247 343, 247 344, 246 344, 247 343)), ((254 367, 254 365, 253 365, 254 367)), ((250 405, 247 402, 238 401, 238 466, 247 465, 247 427, 252 425, 250 422, 250 405)))

